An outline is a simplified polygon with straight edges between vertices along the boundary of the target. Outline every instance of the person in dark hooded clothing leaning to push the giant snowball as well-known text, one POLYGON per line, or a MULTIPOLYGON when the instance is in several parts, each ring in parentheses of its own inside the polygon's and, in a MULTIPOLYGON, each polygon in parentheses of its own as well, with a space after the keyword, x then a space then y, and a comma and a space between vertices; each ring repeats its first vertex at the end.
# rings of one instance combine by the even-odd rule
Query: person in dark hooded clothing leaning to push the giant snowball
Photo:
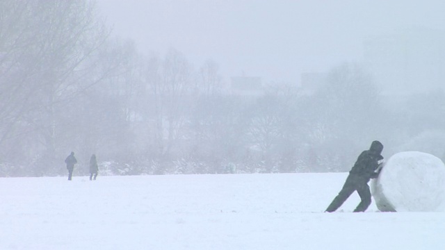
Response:
POLYGON ((368 182, 371 178, 377 178, 380 174, 383 162, 382 150, 382 143, 373 141, 371 148, 360 154, 339 195, 326 208, 326 212, 337 210, 354 191, 357 191, 360 199, 362 199, 354 212, 364 212, 371 205, 371 192, 368 182))

